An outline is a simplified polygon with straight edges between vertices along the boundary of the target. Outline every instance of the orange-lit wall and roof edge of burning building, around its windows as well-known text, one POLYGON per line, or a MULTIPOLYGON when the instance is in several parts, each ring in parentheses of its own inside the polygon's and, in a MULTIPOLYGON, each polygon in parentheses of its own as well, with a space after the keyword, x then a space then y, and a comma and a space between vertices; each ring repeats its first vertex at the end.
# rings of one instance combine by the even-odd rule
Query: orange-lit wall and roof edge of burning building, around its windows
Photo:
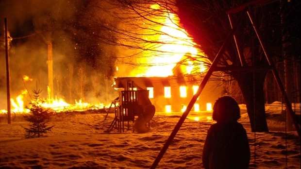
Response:
MULTIPOLYGON (((115 79, 116 88, 128 89, 144 89, 153 87, 153 98, 150 98, 152 104, 156 107, 156 112, 166 112, 166 105, 171 106, 171 112, 181 112, 183 106, 187 106, 191 101, 194 90, 193 85, 199 86, 201 82, 195 81, 194 83, 187 83, 179 81, 175 77, 126 77, 115 79), (129 87, 130 86, 130 87, 129 87), (164 87, 170 86, 171 97, 165 97, 164 87), (187 96, 180 97, 180 86, 186 86, 187 96)), ((200 110, 206 110, 206 103, 212 103, 223 95, 223 87, 218 81, 208 81, 201 92, 196 103, 200 105, 200 110)), ((191 111, 194 111, 192 107, 191 111)))

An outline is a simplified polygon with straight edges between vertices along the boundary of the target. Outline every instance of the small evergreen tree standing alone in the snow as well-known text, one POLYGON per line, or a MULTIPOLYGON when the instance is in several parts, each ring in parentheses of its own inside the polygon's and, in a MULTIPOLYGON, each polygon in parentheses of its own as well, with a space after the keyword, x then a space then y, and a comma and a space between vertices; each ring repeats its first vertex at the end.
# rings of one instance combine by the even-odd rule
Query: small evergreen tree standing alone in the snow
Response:
POLYGON ((50 120, 51 114, 41 106, 41 103, 43 102, 39 98, 41 90, 33 90, 33 93, 34 100, 30 101, 30 106, 27 107, 30 110, 30 114, 23 116, 26 121, 30 122, 29 128, 22 126, 26 132, 25 138, 45 136, 44 134, 51 131, 51 128, 53 127, 48 127, 46 125, 50 120))

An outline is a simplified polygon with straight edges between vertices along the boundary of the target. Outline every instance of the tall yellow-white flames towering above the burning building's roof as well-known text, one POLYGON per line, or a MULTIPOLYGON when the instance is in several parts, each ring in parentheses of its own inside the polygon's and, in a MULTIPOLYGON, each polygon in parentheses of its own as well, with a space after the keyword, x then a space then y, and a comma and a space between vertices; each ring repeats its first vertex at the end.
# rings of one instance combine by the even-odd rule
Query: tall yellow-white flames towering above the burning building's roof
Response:
MULTIPOLYGON (((151 9, 159 8, 158 5, 151 5, 151 9)), ((136 76, 167 77, 173 75, 172 69, 187 53, 192 58, 196 58, 197 55, 204 56, 202 52, 194 47, 195 43, 186 31, 178 26, 179 18, 175 14, 166 11, 164 20, 165 23, 160 29, 162 34, 158 36, 158 39, 154 39, 154 41, 160 43, 160 46, 156 46, 155 49, 158 53, 153 52, 151 57, 144 60, 145 63, 142 64, 149 64, 151 67, 145 72, 138 72, 136 76)), ((187 74, 190 74, 194 68, 193 61, 186 61, 185 65, 187 65, 187 74)), ((203 71, 201 66, 199 69, 203 71)))

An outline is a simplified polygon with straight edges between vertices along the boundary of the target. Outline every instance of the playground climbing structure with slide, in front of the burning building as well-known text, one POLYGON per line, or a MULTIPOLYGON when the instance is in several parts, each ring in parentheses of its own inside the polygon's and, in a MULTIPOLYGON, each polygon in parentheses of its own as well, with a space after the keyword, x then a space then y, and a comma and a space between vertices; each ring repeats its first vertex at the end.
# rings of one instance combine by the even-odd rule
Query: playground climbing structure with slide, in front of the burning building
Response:
POLYGON ((150 125, 147 124, 156 110, 149 99, 148 90, 122 90, 110 108, 112 105, 115 109, 115 118, 107 132, 111 132, 114 128, 118 132, 124 132, 125 123, 127 123, 127 129, 130 130, 130 122, 133 123, 133 132, 149 132, 150 125))

